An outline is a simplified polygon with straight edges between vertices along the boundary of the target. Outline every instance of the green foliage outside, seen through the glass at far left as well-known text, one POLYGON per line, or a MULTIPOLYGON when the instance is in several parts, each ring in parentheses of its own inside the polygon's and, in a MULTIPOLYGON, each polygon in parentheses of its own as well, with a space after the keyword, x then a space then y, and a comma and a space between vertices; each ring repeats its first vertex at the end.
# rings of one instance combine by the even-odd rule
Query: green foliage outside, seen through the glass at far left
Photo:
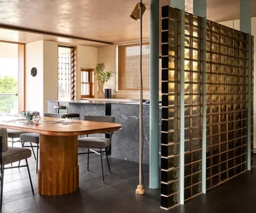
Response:
MULTIPOLYGON (((18 81, 10 76, 0 76, 0 93, 18 93, 18 81)), ((0 95, 0 113, 11 113, 14 103, 17 102, 16 95, 0 95)))

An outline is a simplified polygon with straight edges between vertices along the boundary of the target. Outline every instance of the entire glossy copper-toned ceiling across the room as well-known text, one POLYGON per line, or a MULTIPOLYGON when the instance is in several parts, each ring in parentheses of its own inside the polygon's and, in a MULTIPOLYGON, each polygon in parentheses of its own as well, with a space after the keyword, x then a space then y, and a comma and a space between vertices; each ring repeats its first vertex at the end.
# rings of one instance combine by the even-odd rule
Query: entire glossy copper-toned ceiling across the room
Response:
MULTIPOLYGON (((130 18, 138 0, 0 0, 0 40, 27 43, 38 39, 104 46, 92 39, 116 43, 137 40, 140 24, 130 18), (4 28, 3 28, 4 27, 4 28), (6 28, 7 27, 7 28, 6 28), (9 27, 26 29, 11 30, 9 27), (51 34, 65 34, 80 39, 27 32, 36 29, 51 34)), ((239 18, 239 0, 208 0, 208 19, 213 21, 239 18)), ((161 6, 170 0, 160 0, 161 6)), ((144 38, 149 38, 149 0, 144 0, 144 38)), ((186 0, 191 12, 193 0, 186 0)), ((256 0, 252 0, 252 15, 256 16, 256 0)))

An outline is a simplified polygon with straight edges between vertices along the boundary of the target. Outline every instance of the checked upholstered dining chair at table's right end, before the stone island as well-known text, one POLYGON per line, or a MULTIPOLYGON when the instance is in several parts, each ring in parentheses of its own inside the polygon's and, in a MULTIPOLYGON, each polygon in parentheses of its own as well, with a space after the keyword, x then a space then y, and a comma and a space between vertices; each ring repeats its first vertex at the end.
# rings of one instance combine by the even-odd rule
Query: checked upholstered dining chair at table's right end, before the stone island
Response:
MULTIPOLYGON (((95 121, 95 122, 107 122, 107 123, 115 123, 114 116, 83 116, 83 121, 95 121)), ((85 153, 87 154, 87 170, 89 170, 89 156, 90 153, 96 153, 100 155, 100 162, 101 162, 101 170, 102 170, 102 181, 104 182, 104 172, 103 172, 103 164, 102 164, 102 153, 106 153, 111 145, 111 139, 114 132, 102 132, 101 134, 109 135, 109 138, 105 137, 81 137, 78 139, 78 147, 82 149, 87 149, 85 153), (96 149, 96 150, 95 150, 96 149), (105 150, 105 151, 102 151, 105 150), (100 151, 100 153, 99 153, 100 151)), ((106 154, 107 158, 107 165, 109 167, 109 173, 111 173, 110 166, 109 166, 109 158, 106 154)))

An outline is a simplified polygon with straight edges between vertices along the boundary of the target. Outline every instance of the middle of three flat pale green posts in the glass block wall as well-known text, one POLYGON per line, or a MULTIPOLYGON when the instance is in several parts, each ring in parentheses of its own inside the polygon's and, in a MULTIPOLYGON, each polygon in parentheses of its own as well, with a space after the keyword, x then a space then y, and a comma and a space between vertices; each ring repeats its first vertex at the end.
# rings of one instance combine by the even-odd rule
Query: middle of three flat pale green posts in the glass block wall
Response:
POLYGON ((193 1, 193 13, 203 18, 203 135, 202 135, 202 192, 206 193, 206 0, 193 1))

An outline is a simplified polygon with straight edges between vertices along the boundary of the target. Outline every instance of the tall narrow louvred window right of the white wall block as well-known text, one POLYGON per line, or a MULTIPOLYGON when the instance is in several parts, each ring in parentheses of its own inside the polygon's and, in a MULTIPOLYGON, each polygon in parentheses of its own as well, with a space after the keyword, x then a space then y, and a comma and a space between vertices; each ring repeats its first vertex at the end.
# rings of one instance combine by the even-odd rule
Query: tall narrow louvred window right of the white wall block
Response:
POLYGON ((75 48, 58 47, 58 99, 75 98, 76 57, 75 48))

